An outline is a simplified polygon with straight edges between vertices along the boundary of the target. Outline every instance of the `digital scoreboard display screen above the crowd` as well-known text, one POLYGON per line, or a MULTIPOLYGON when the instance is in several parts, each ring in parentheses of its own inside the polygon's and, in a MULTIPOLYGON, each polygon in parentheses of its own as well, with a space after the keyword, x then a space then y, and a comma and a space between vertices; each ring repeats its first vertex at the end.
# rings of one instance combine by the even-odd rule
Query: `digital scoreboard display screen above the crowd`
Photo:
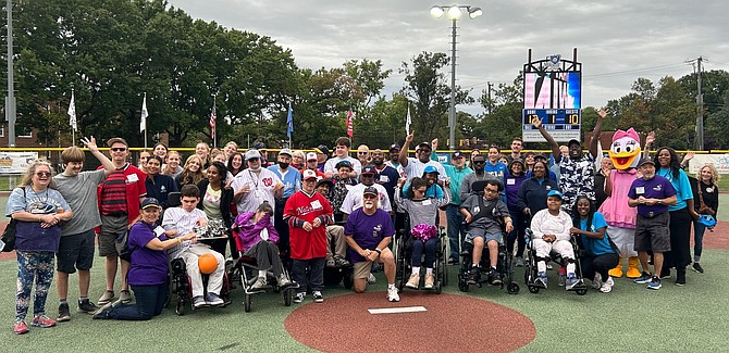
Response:
POLYGON ((581 72, 528 72, 523 75, 523 141, 545 141, 531 125, 534 117, 542 121, 555 141, 581 140, 581 72))

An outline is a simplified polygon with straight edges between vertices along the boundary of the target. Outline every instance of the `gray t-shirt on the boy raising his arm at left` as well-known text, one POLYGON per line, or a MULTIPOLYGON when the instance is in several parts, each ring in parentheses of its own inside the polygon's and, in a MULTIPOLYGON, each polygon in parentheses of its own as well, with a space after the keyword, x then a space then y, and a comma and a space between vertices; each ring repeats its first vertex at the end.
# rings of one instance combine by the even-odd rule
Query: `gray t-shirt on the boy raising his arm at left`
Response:
POLYGON ((101 225, 96 188, 103 182, 103 169, 82 172, 78 176, 59 174, 55 187, 73 210, 73 218, 63 224, 61 236, 85 232, 101 225))

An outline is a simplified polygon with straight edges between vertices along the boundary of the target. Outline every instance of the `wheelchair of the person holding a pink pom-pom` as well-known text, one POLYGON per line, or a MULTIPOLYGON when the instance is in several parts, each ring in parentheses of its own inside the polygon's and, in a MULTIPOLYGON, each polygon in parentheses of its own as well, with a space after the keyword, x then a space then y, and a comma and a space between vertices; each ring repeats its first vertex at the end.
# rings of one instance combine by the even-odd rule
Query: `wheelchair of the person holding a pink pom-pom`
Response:
MULTIPOLYGON (((412 264, 410 262, 412 255, 412 242, 410 239, 410 231, 406 230, 410 228, 410 219, 406 217, 405 229, 400 229, 399 236, 395 239, 395 283, 399 292, 406 288, 405 283, 408 281, 408 278, 412 273, 412 264)), ((440 294, 443 291, 443 287, 448 285, 448 272, 446 270, 446 256, 448 254, 446 247, 448 244, 448 235, 444 227, 438 226, 437 229, 438 244, 435 247, 435 262, 433 263, 433 276, 435 277, 435 281, 432 289, 423 288, 422 286, 418 286, 418 288, 421 290, 433 290, 435 293, 440 294)), ((423 249, 423 256, 424 255, 423 249)), ((424 277, 422 280, 424 280, 424 277)))

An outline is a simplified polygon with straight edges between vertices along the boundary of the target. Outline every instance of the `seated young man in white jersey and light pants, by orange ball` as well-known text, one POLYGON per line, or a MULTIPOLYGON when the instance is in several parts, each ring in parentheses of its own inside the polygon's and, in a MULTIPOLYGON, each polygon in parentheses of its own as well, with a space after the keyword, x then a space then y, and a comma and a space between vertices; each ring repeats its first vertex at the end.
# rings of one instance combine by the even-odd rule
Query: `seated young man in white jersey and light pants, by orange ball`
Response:
MULTIPOLYGON (((200 190, 195 185, 189 184, 184 186, 180 193, 182 205, 164 211, 162 220, 162 227, 171 239, 194 232, 195 226, 208 225, 208 217, 205 212, 197 209, 197 203, 200 202, 200 190)), ((169 256, 170 259, 182 259, 185 262, 187 276, 190 278, 193 288, 193 305, 195 307, 222 305, 223 300, 220 298, 220 290, 223 288, 225 275, 225 259, 223 255, 206 244, 197 243, 195 239, 178 240, 177 242, 177 245, 169 251, 169 256), (198 257, 203 254, 212 254, 218 260, 218 267, 208 279, 208 295, 205 297, 202 275, 197 263, 198 257)))

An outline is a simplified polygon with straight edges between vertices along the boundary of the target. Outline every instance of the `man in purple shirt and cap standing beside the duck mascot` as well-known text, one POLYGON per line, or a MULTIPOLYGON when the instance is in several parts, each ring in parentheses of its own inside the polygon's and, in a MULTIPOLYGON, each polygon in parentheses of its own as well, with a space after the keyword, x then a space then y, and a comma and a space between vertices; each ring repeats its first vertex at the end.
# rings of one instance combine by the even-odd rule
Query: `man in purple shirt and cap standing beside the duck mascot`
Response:
POLYGON ((676 203, 676 189, 668 179, 656 175, 653 160, 641 160, 639 167, 643 177, 635 179, 628 191, 628 205, 638 207, 635 251, 643 268, 641 277, 633 281, 647 283, 648 289, 658 290, 664 252, 670 251, 668 205, 676 203), (648 251, 653 251, 653 275, 648 267, 648 251))

